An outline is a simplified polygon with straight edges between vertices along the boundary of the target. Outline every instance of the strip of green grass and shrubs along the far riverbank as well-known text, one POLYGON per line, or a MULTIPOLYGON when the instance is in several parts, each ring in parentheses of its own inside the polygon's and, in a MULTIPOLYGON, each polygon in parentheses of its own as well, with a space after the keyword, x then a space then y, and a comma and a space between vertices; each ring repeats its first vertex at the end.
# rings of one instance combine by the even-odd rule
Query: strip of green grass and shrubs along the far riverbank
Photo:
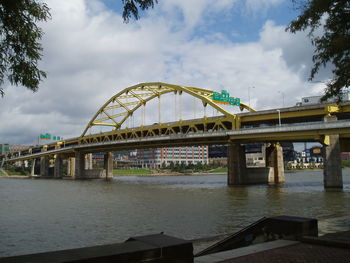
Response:
MULTIPOLYGON (((205 175, 205 174, 227 174, 227 167, 212 167, 208 165, 202 165, 201 167, 189 167, 180 165, 169 168, 160 169, 145 169, 145 168, 118 168, 113 170, 113 176, 181 176, 181 175, 205 175)), ((350 168, 350 160, 342 161, 342 168, 350 168)), ((310 165, 305 168, 301 165, 297 165, 296 168, 291 168, 288 165, 285 167, 285 172, 294 173, 298 171, 317 171, 322 170, 322 167, 316 167, 310 165)), ((0 177, 29 177, 29 168, 22 169, 20 167, 7 165, 0 168, 0 177)))

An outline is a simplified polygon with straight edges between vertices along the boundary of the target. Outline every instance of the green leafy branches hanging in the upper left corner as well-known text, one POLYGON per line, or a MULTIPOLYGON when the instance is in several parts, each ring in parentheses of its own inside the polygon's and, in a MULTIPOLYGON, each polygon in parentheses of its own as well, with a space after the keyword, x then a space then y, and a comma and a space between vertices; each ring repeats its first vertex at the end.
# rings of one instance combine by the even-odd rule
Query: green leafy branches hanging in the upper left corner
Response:
MULTIPOLYGON (((0 2, 0 85, 7 77, 12 85, 38 90, 46 73, 38 69, 43 32, 36 23, 49 18, 47 5, 36 0, 0 2)), ((4 95, 2 88, 0 95, 4 95)))

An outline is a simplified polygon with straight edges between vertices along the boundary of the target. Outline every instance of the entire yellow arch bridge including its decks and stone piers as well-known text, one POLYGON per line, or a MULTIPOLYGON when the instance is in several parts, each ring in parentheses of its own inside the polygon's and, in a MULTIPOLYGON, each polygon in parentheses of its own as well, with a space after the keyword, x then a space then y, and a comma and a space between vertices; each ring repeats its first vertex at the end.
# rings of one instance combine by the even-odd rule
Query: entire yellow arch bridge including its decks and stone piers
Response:
MULTIPOLYGON (((95 113, 80 137, 34 146, 26 151, 14 152, 9 158, 2 155, 0 161, 4 163, 5 159, 9 162, 16 162, 40 158, 40 174, 44 175, 47 174, 48 159, 51 159, 55 166, 54 176, 60 177, 62 159, 74 159, 74 176, 85 178, 84 156, 87 153, 108 152, 105 154, 104 164, 106 176, 110 176, 113 163, 112 151, 174 145, 227 144, 229 146, 228 184, 235 185, 252 183, 250 179, 244 179, 249 177, 248 169, 244 166, 244 144, 265 142, 270 144, 266 151, 268 154, 266 165, 269 169, 260 172, 264 180, 266 178, 270 180, 272 178, 270 178, 270 172, 273 171, 273 181, 279 183, 284 180, 284 172, 281 157, 283 154, 278 142, 317 141, 324 146, 325 187, 342 187, 340 151, 350 151, 350 102, 339 105, 329 103, 295 106, 256 112, 245 103, 236 103, 236 99, 229 97, 224 92, 219 94, 196 87, 162 82, 140 83, 111 97, 95 113), (158 113, 160 114, 160 98, 171 93, 189 94, 200 100, 204 108, 210 105, 216 109, 219 116, 207 117, 204 114, 202 118, 182 120, 180 115, 179 120, 167 123, 162 123, 159 117, 157 123, 145 125, 142 121, 140 126, 128 128, 126 121, 130 120, 138 109, 146 107, 157 98, 159 98, 158 113), (225 95, 225 97, 218 97, 218 95, 225 95), (235 114, 216 103, 219 101, 232 104, 231 99, 241 111, 247 110, 248 112, 235 114), (281 125, 282 119, 285 126, 281 125), (101 130, 98 133, 93 130, 96 127, 109 127, 110 130, 104 132, 101 130)), ((35 161, 32 167, 34 166, 35 161)), ((249 178, 254 179, 254 176, 253 174, 253 177, 249 178)))

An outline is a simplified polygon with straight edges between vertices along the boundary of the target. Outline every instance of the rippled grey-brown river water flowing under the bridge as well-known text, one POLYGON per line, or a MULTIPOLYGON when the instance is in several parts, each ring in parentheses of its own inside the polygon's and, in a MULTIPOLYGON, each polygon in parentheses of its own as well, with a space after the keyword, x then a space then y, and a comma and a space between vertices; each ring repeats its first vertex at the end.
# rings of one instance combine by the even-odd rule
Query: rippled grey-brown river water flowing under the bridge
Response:
MULTIPOLYGON (((343 170, 343 180, 343 191, 329 192, 322 171, 286 173, 279 187, 227 187, 226 175, 125 176, 111 182, 1 178, 0 257, 159 232, 194 239, 233 232, 263 216, 349 215, 350 170, 343 170)), ((342 226, 350 229, 349 220, 342 226)))

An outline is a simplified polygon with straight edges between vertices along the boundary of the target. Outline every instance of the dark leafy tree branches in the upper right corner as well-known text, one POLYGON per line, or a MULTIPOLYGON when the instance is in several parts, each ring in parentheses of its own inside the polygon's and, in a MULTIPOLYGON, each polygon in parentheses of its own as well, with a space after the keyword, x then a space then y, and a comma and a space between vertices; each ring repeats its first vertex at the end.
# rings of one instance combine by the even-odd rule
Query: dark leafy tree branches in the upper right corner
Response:
POLYGON ((309 37, 315 46, 313 80, 320 67, 332 64, 333 78, 329 80, 322 101, 331 97, 341 100, 342 92, 350 86, 350 0, 292 0, 302 13, 287 27, 296 33, 310 29, 309 37), (322 29, 321 35, 316 33, 322 29))

